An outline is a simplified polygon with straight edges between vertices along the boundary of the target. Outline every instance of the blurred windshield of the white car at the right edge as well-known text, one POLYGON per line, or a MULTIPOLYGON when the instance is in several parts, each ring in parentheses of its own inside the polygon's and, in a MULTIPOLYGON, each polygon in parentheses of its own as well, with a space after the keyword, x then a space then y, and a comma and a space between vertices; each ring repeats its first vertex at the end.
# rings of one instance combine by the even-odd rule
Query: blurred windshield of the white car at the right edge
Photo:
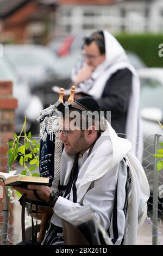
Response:
POLYGON ((163 111, 163 84, 158 80, 141 78, 140 108, 155 107, 163 111))

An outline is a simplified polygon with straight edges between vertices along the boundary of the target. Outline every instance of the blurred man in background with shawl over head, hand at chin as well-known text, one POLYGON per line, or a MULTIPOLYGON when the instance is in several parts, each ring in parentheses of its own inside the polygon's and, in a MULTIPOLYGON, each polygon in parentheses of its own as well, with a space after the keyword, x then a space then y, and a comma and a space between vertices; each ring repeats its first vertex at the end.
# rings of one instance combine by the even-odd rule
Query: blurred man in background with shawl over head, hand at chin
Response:
POLYGON ((80 92, 75 98, 92 96, 102 111, 111 111, 111 126, 118 136, 129 139, 141 159, 140 81, 126 52, 107 31, 84 38, 82 50, 84 60, 72 71, 72 81, 80 92))

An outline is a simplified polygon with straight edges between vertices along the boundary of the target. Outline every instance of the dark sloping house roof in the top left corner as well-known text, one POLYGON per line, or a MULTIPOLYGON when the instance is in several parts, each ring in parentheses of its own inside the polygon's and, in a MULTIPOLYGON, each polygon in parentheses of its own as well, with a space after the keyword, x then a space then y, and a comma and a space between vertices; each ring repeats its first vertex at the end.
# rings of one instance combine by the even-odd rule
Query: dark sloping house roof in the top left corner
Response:
POLYGON ((0 0, 0 19, 5 19, 29 2, 31 0, 0 0))

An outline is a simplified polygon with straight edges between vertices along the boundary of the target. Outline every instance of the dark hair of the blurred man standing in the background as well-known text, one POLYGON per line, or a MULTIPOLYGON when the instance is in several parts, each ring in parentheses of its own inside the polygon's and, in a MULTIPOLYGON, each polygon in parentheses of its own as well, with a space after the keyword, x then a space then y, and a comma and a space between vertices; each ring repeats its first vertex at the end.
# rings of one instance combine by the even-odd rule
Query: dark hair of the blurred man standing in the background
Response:
POLYGON ((85 37, 82 48, 84 47, 84 45, 90 45, 91 42, 96 42, 99 48, 99 52, 101 54, 105 53, 105 39, 103 31, 96 31, 93 34, 91 34, 91 36, 85 37))

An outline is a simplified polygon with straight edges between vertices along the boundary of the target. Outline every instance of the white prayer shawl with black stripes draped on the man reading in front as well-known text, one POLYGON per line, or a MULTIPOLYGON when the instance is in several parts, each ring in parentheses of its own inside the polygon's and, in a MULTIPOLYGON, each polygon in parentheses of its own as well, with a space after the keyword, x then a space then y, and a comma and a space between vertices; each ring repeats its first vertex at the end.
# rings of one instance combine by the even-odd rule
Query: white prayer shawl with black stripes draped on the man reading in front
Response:
MULTIPOLYGON (((105 230, 108 230, 110 225, 109 216, 110 211, 112 212, 112 206, 109 208, 110 206, 105 203, 105 201, 110 196, 112 188, 110 188, 109 194, 108 192, 105 193, 105 189, 108 190, 109 187, 116 186, 116 170, 118 169, 117 167, 120 165, 123 157, 127 159, 132 175, 131 202, 129 205, 129 220, 127 223, 126 236, 127 240, 125 243, 128 245, 136 244, 137 220, 139 215, 141 215, 145 209, 146 202, 149 198, 149 185, 140 162, 131 151, 131 143, 127 139, 118 137, 108 122, 106 130, 102 133, 101 137, 99 137, 91 151, 91 154, 89 157, 87 157, 83 166, 79 170, 79 175, 82 175, 80 175, 80 177, 78 175, 80 182, 77 186, 77 203, 73 203, 71 200, 59 197, 54 206, 54 214, 51 222, 61 227, 60 217, 62 216, 62 212, 67 212, 68 216, 68 212, 82 207, 81 204, 85 203, 85 198, 89 197, 89 199, 91 198, 90 205, 92 204, 91 206, 95 211, 97 220, 101 222, 105 230), (110 174, 113 178, 115 176, 115 179, 108 178, 108 180, 102 181, 103 177, 105 179, 105 176, 110 174), (105 182, 105 187, 102 187, 102 185, 99 183, 98 191, 97 188, 95 190, 96 194, 93 194, 93 189, 88 191, 90 185, 94 181, 97 183, 99 181, 105 182), (88 194, 89 196, 87 196, 88 194), (98 202, 101 202, 103 206, 98 207, 96 203, 93 204, 96 197, 100 197, 98 202), (106 223, 106 221, 108 221, 108 223, 106 223)), ((67 184, 73 166, 73 161, 74 156, 67 155, 65 151, 63 151, 61 157, 61 185, 67 184)), ((115 190, 115 188, 113 188, 113 190, 115 190)), ((114 192, 112 192, 112 196, 110 197, 112 197, 114 200, 114 192)))

